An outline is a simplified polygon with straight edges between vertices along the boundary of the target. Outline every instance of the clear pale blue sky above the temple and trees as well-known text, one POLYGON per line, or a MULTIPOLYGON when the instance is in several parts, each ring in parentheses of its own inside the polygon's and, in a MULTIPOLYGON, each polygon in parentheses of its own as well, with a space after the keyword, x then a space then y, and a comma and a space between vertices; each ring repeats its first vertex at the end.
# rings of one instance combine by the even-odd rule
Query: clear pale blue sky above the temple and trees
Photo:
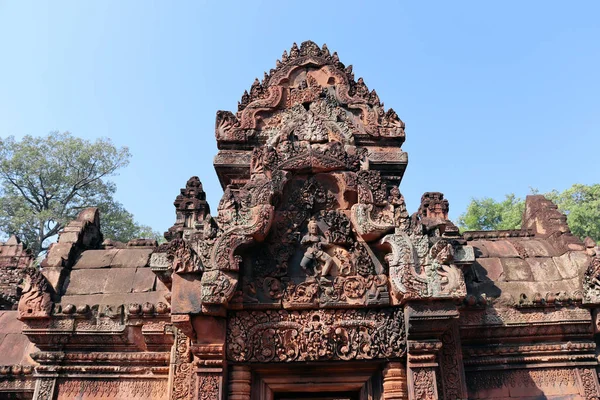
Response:
POLYGON ((216 111, 309 39, 406 123, 410 212, 600 182, 598 1, 0 0, 0 135, 129 146, 117 200, 164 231, 192 175, 216 212, 216 111))

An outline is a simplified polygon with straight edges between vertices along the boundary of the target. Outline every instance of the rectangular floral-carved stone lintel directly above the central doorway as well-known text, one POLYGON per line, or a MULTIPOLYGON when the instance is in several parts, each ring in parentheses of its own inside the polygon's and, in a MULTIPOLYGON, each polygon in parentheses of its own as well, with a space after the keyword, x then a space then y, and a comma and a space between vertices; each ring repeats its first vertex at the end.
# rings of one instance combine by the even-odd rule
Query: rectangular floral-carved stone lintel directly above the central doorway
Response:
POLYGON ((401 357, 405 339, 400 309, 237 312, 228 321, 227 357, 236 362, 401 357))

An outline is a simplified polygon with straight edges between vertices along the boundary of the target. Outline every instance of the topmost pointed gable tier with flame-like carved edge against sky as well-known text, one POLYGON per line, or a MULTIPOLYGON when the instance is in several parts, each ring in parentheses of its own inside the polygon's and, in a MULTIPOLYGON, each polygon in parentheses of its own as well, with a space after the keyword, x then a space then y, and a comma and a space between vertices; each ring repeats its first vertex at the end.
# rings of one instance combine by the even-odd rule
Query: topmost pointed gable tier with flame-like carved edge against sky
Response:
POLYGON ((313 42, 284 52, 276 68, 244 92, 237 113, 217 112, 216 137, 215 169, 223 188, 250 177, 252 150, 264 145, 288 157, 299 153, 300 143, 362 148, 371 168, 395 184, 407 163, 398 115, 385 110, 362 78, 354 79, 352 66, 337 53, 313 42))

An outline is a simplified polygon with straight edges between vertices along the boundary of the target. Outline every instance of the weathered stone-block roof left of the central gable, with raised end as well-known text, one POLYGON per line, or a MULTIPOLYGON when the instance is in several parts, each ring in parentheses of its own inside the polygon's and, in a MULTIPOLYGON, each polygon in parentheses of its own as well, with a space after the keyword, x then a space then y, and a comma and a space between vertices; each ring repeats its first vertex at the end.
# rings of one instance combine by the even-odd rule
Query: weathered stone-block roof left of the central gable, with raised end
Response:
POLYGON ((84 210, 60 233, 42 262, 55 301, 63 308, 165 302, 168 289, 149 266, 156 241, 123 244, 101 238, 96 209, 84 210))

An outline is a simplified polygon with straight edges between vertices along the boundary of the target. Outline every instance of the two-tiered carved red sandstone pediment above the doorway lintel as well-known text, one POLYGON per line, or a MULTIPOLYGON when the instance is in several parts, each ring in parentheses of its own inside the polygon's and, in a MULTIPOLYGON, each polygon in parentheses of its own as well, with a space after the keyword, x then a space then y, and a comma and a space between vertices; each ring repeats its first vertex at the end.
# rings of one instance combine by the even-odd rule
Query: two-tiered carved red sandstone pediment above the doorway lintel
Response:
POLYGON ((185 243, 166 258, 200 282, 202 312, 465 295, 462 245, 442 227, 447 201, 428 193, 409 217, 398 187, 404 124, 326 46, 294 46, 235 115, 217 114, 216 135, 220 154, 237 152, 247 169, 228 161, 215 218, 188 182, 176 200, 185 243), (181 222, 186 201, 194 226, 181 222))

